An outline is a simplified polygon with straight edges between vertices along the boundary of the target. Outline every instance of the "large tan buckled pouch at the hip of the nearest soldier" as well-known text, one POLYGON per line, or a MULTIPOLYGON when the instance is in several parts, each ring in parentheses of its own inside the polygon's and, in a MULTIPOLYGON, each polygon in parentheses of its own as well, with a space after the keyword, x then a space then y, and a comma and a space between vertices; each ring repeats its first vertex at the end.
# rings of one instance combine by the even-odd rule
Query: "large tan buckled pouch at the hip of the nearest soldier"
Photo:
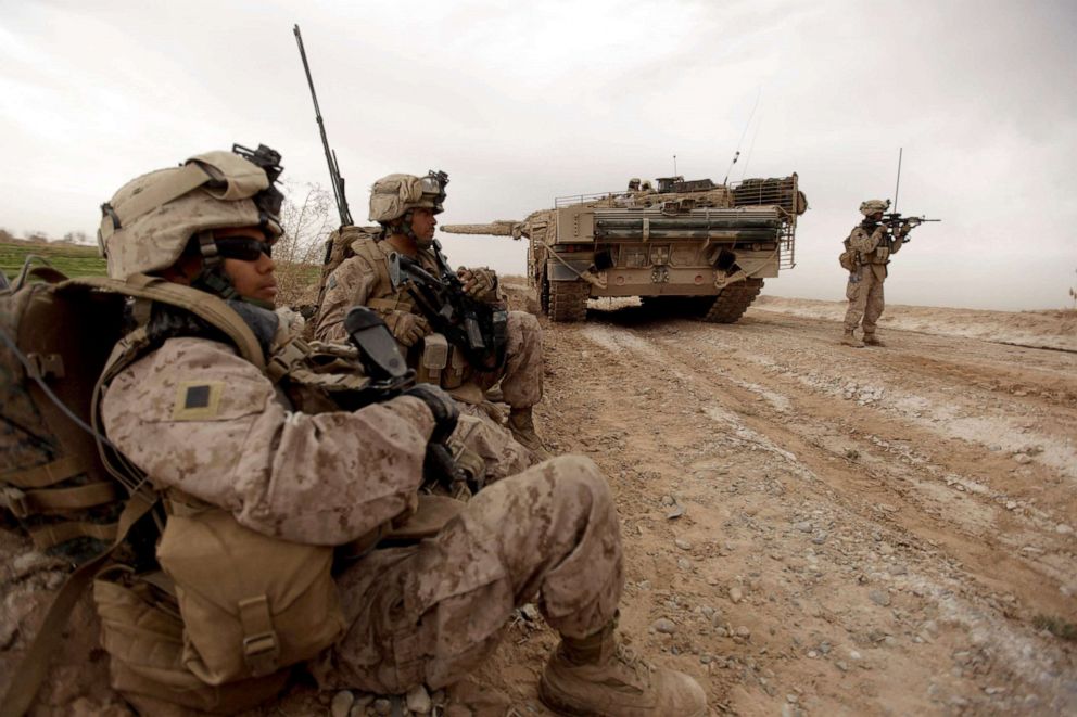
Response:
POLYGON ((206 684, 270 675, 344 631, 332 548, 271 538, 206 509, 168 516, 157 562, 176 585, 182 663, 206 684))

